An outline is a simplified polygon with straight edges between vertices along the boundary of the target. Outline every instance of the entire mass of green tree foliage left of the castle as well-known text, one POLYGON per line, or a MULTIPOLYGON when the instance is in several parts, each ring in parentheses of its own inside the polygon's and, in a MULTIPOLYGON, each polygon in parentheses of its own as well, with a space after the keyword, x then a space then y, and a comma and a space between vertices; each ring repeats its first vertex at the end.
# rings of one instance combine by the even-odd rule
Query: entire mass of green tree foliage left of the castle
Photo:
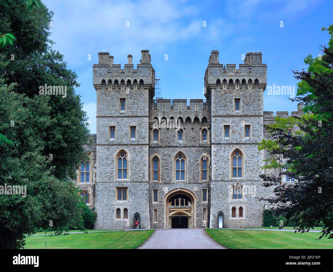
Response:
POLYGON ((0 29, 16 40, 0 56, 0 245, 20 248, 25 234, 40 229, 84 229, 72 180, 87 159, 89 130, 74 91, 77 76, 49 40, 52 13, 44 5, 7 4, 0 8, 0 29), (66 86, 67 93, 40 95, 45 84, 66 86), (26 196, 4 194, 5 186, 26 186, 26 196))

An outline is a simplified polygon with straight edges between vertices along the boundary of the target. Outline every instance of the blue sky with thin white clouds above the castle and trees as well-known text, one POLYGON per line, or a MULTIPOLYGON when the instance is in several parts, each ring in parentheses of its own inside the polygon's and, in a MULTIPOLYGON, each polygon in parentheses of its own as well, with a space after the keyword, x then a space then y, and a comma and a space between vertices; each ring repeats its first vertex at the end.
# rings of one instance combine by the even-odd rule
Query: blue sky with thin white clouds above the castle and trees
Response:
MULTIPOLYGON (((98 52, 110 52, 122 68, 132 54, 136 68, 141 50, 148 49, 155 71, 161 73, 161 97, 204 99, 211 50, 219 51, 220 63, 235 63, 237 68, 242 54, 261 51, 267 86, 293 86, 297 81, 292 69, 306 68, 304 58, 320 53, 319 44, 327 45, 329 39, 320 30, 333 24, 333 1, 320 0, 43 2, 54 12, 54 48, 78 75, 81 86, 76 92, 92 123, 91 133, 96 133, 92 65, 98 63, 98 52)), ((296 108, 287 97, 264 92, 265 111, 296 108)))

